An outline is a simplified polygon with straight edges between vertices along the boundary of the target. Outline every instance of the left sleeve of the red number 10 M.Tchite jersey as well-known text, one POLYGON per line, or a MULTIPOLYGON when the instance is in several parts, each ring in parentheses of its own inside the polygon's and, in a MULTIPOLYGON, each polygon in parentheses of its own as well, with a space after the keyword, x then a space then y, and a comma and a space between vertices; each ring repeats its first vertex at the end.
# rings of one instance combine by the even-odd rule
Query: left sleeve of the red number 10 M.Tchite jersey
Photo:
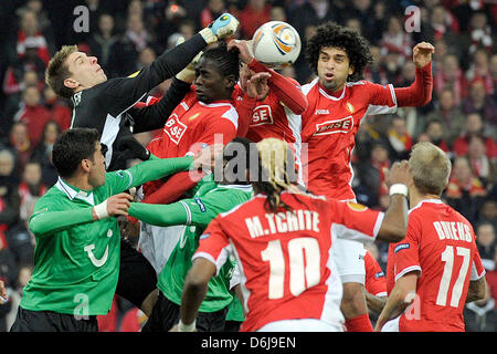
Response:
POLYGON ((200 236, 199 248, 191 260, 204 258, 211 261, 215 266, 215 275, 218 275, 228 259, 229 247, 228 235, 220 226, 220 217, 216 217, 200 236))

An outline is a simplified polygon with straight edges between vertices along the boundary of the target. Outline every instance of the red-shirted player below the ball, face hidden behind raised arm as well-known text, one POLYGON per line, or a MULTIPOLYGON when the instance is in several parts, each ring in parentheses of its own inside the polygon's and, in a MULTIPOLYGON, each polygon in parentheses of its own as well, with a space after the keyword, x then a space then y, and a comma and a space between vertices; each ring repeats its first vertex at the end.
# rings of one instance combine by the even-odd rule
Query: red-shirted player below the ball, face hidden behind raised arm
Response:
POLYGON ((228 44, 229 49, 236 48, 242 62, 240 83, 233 92, 236 104, 243 103, 247 81, 255 73, 268 73, 271 76, 267 79, 266 90, 258 90, 258 92, 264 91, 264 95, 258 97, 255 107, 248 112, 247 116, 241 114, 239 135, 245 136, 254 143, 267 137, 287 142, 295 155, 297 170, 302 174, 300 115, 307 108, 307 98, 297 81, 285 77, 273 69, 261 64, 251 53, 248 45, 250 41, 241 40, 234 40, 228 44))

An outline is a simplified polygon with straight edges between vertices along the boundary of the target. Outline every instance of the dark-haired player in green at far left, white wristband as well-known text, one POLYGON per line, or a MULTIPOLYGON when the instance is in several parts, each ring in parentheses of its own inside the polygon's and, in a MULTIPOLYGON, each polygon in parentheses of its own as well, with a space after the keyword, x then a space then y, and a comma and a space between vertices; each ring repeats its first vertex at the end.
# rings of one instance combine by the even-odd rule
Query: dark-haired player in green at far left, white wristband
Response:
POLYGON ((98 331, 119 274, 120 232, 131 196, 125 190, 163 176, 199 168, 194 157, 149 160, 106 173, 96 129, 65 131, 53 147, 57 183, 36 202, 29 221, 34 233, 34 270, 12 332, 98 331))

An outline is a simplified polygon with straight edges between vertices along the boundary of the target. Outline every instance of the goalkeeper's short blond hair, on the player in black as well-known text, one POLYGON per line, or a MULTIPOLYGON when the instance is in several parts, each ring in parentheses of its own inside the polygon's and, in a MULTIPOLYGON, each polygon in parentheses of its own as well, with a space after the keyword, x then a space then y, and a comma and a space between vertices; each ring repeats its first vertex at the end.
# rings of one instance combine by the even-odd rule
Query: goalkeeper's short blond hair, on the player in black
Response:
POLYGON ((66 63, 67 58, 77 52, 77 45, 63 45, 62 49, 53 55, 45 71, 45 83, 55 92, 56 95, 71 98, 74 91, 64 85, 64 80, 71 76, 66 63))

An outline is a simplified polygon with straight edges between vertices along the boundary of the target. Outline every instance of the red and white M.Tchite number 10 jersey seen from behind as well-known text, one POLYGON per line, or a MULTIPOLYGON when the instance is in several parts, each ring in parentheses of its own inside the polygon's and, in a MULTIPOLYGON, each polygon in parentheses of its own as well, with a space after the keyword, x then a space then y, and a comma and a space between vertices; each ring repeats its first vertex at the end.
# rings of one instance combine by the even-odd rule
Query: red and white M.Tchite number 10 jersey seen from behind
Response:
POLYGON ((372 242, 383 214, 353 202, 283 192, 292 211, 269 212, 256 195, 218 216, 200 237, 198 257, 218 271, 234 254, 242 273, 246 320, 241 331, 293 319, 342 323, 341 281, 331 257, 336 237, 372 242))

